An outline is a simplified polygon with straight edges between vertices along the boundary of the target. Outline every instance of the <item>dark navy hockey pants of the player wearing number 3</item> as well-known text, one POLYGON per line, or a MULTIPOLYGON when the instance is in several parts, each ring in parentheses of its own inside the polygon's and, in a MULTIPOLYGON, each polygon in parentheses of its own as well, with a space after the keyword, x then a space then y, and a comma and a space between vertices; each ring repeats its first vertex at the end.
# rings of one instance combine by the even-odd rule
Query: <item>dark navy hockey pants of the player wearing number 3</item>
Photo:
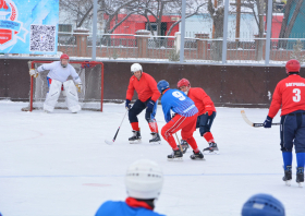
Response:
POLYGON ((298 110, 281 117, 281 151, 305 153, 305 111, 298 110))

